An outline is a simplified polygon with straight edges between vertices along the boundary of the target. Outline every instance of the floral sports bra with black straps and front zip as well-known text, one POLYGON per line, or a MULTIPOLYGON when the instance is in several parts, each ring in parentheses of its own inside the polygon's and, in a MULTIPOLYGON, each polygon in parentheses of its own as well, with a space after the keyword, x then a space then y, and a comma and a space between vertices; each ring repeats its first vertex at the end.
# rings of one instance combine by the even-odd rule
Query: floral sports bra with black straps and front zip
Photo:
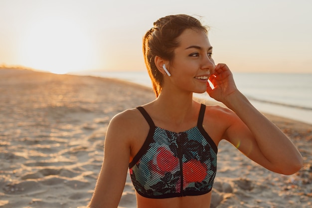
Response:
POLYGON ((150 131, 129 164, 136 191, 164 199, 198 196, 211 191, 217 170, 217 146, 202 127, 206 106, 201 104, 197 126, 175 133, 158 128, 143 107, 138 110, 150 131))

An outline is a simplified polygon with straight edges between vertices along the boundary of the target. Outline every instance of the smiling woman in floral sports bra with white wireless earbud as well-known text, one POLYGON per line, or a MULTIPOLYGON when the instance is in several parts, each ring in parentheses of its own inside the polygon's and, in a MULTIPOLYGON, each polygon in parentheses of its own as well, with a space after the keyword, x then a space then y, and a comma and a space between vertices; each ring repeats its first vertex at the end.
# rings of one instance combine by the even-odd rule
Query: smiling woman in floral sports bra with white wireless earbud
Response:
POLYGON ((156 100, 111 120, 90 208, 118 207, 128 168, 138 208, 209 208, 222 139, 276 173, 300 170, 292 142, 236 88, 227 65, 215 65, 207 28, 196 18, 158 19, 143 52, 156 100), (228 108, 195 102, 193 92, 228 108))

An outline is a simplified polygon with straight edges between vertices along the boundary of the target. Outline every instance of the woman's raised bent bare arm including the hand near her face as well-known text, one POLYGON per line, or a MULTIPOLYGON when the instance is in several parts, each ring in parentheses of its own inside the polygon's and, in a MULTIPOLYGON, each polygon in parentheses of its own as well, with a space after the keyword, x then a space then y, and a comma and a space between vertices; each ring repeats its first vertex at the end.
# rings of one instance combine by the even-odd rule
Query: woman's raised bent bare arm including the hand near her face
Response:
POLYGON ((297 148, 237 90, 232 73, 225 64, 216 67, 211 81, 215 88, 207 86, 209 95, 232 110, 223 112, 229 125, 224 138, 271 171, 285 175, 299 171, 303 159, 297 148))

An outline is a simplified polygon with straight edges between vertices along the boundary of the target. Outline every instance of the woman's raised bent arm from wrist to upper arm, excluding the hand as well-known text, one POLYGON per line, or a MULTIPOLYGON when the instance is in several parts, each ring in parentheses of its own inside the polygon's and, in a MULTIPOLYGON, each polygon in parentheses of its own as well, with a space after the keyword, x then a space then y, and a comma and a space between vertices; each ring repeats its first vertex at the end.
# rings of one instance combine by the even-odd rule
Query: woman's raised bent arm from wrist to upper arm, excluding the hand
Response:
MULTIPOLYGON (((263 167, 285 175, 299 171, 303 159, 291 140, 241 93, 228 106, 236 113, 228 116, 231 125, 225 138, 263 167)), ((235 98, 234 98, 235 96, 235 98)))

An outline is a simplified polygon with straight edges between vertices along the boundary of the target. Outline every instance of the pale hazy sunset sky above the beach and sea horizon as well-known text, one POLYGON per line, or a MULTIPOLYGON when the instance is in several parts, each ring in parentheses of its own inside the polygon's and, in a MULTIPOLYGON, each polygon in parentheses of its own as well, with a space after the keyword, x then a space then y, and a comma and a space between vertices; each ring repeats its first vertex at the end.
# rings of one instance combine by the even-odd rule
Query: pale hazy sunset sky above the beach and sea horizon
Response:
POLYGON ((233 72, 312 73, 311 0, 0 0, 0 66, 53 73, 146 70, 142 38, 185 13, 210 26, 233 72))

